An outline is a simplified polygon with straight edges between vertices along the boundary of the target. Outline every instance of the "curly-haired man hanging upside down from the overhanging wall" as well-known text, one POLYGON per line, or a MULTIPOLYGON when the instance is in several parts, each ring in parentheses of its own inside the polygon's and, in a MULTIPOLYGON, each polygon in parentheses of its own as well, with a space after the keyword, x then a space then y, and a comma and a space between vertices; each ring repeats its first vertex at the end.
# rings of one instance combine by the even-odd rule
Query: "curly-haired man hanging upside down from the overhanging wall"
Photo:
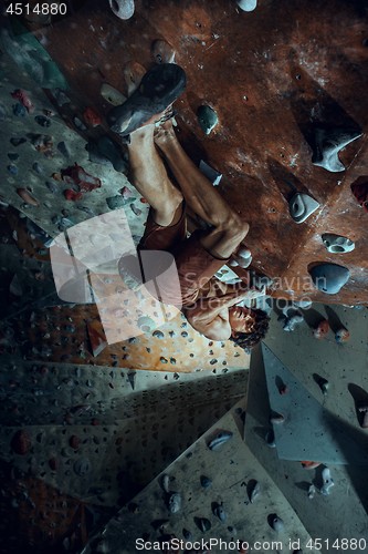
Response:
MULTIPOLYGON (((130 73, 130 84, 136 82, 138 86, 108 114, 112 130, 128 143, 132 183, 150 205, 138 250, 167 250, 174 255, 181 298, 172 299, 172 304, 181 305, 197 331, 212 340, 230 338, 251 348, 265 336, 269 317, 262 310, 238 305, 264 295, 264 290, 250 288, 244 281, 224 284, 214 277, 230 259, 241 267, 251 263, 250 252, 242 247, 249 225, 213 188, 177 140, 170 110, 185 90, 183 70, 162 63, 141 81, 140 76, 130 73), (190 222, 200 222, 202 227, 189 238, 188 212, 190 222)), ((124 258, 119 267, 124 274, 124 258)))

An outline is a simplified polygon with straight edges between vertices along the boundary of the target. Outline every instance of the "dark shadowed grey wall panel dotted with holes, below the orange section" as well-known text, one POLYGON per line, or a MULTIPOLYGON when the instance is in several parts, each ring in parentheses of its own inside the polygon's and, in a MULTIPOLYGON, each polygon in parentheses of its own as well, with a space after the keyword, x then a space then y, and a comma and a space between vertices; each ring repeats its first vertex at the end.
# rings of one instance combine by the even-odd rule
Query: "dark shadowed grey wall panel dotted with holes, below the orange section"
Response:
POLYGON ((108 506, 162 471, 244 396, 248 381, 244 370, 132 372, 13 356, 1 363, 1 459, 108 506))

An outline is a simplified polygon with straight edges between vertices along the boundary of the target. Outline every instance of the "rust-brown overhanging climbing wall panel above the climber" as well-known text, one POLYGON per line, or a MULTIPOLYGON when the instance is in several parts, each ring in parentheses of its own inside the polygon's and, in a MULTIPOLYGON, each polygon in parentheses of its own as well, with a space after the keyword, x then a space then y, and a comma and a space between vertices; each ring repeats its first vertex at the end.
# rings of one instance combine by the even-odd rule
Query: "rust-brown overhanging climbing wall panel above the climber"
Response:
POLYGON ((314 2, 318 17, 311 17, 307 0, 259 0, 251 12, 235 0, 135 3, 127 21, 92 0, 53 25, 33 25, 80 111, 92 105, 105 115, 109 107, 101 85, 107 82, 126 93, 126 63, 150 66, 151 42, 167 40, 188 75, 187 92, 177 102, 180 140, 194 161, 202 157, 223 174, 222 193, 251 224, 254 266, 278 279, 275 295, 307 293, 326 300, 324 293, 306 290, 308 268, 336 261, 351 276, 328 301, 365 304, 367 215, 350 185, 367 181, 366 138, 340 152, 345 171, 332 173, 312 163, 318 126, 366 131, 365 2, 314 2), (218 115, 209 135, 197 119, 201 105, 218 115), (288 213, 295 192, 320 204, 303 224, 288 213), (330 255, 320 239, 324 233, 347 235, 355 250, 330 255))

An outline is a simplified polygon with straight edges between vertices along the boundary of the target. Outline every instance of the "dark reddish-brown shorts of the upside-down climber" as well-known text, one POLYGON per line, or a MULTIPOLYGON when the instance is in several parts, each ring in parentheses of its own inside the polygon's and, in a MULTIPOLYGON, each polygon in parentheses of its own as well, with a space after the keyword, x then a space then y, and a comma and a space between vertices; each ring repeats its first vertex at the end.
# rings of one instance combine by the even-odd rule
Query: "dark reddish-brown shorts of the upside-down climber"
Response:
POLYGON ((182 307, 192 305, 199 297, 201 288, 229 261, 229 258, 219 259, 206 250, 200 243, 201 236, 206 233, 206 230, 194 230, 187 238, 185 204, 179 222, 167 227, 155 223, 153 211, 149 211, 146 230, 138 250, 167 250, 174 255, 181 289, 181 299, 174 299, 174 305, 178 300, 182 307))

